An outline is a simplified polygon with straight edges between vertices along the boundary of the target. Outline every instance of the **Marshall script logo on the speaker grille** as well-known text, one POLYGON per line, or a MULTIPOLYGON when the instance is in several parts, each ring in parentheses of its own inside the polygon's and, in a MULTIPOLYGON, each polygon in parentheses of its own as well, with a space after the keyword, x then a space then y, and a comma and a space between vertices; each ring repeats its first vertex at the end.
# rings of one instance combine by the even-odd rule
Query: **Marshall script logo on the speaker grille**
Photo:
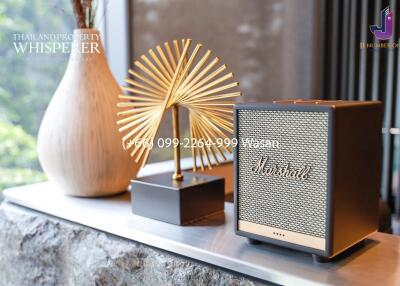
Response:
POLYGON ((266 177, 273 176, 304 181, 308 179, 311 170, 311 167, 307 165, 303 166, 300 169, 294 169, 290 167, 289 163, 280 167, 277 164, 267 166, 268 162, 269 156, 261 157, 251 168, 251 171, 266 177))

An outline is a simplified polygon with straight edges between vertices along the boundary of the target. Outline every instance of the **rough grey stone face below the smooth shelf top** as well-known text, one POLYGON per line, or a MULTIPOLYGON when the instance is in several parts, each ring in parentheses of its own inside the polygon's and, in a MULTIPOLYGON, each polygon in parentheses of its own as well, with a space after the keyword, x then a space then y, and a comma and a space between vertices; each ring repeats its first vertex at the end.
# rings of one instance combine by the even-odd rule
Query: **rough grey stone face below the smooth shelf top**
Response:
POLYGON ((1 285, 266 285, 4 202, 1 285))

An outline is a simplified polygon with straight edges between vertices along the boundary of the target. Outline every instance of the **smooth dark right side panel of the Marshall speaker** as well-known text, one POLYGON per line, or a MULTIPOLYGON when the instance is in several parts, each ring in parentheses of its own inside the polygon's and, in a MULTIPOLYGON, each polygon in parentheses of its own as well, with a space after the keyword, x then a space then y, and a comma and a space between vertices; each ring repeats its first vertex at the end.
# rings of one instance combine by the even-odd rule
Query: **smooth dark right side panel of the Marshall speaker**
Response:
POLYGON ((381 105, 337 108, 334 128, 333 254, 378 228, 381 105))

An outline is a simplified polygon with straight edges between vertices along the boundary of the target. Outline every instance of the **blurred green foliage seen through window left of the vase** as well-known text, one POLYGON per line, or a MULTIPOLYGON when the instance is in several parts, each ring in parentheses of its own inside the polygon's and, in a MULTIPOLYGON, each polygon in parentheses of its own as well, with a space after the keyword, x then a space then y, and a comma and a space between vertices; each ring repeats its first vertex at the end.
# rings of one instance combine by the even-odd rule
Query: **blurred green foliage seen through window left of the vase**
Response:
POLYGON ((45 180, 35 138, 68 61, 67 54, 17 54, 14 34, 73 28, 70 1, 0 1, 0 190, 45 180))

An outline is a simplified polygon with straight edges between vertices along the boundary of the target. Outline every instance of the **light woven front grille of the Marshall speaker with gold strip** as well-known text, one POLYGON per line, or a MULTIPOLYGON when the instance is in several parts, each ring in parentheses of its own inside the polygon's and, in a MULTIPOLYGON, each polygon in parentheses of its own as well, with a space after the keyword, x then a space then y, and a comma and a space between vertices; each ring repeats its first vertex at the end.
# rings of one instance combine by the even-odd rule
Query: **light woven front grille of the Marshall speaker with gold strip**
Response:
POLYGON ((326 250, 328 116, 237 111, 238 230, 326 250))

